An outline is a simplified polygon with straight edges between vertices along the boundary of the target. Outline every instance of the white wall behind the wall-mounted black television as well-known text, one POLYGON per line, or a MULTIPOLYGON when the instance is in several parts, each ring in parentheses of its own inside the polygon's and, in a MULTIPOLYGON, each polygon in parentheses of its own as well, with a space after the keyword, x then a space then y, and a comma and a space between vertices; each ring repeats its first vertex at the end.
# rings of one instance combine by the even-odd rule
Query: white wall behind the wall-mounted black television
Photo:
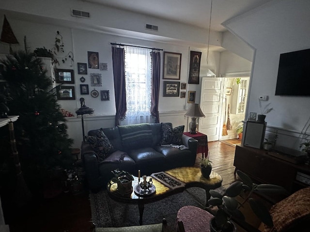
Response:
MULTIPOLYGON (((309 119, 310 97, 275 96, 279 55, 310 48, 309 9, 309 0, 275 0, 225 23, 256 49, 248 112, 260 113, 258 97, 268 95, 274 111, 267 126, 300 132, 309 119)), ((283 145, 298 149, 299 142, 290 137, 283 145)))

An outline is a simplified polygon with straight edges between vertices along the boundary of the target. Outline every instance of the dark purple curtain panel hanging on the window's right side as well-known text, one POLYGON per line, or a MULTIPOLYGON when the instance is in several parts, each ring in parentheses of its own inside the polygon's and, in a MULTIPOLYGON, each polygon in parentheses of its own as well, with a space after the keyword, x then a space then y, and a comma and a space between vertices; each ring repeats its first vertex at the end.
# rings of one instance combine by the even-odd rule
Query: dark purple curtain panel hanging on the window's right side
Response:
POLYGON ((151 115, 155 117, 155 123, 159 123, 158 102, 160 83, 160 52, 150 52, 152 60, 152 97, 151 115))

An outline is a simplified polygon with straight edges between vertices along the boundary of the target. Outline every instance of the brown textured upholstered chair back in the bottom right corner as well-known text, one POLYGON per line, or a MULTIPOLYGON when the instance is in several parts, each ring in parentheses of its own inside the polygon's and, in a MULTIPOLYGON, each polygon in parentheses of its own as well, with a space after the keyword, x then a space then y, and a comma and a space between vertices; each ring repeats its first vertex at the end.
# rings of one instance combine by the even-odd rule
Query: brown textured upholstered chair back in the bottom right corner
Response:
POLYGON ((294 192, 289 197, 273 205, 269 211, 273 228, 264 232, 284 232, 295 230, 298 225, 308 225, 310 220, 310 187, 294 192))

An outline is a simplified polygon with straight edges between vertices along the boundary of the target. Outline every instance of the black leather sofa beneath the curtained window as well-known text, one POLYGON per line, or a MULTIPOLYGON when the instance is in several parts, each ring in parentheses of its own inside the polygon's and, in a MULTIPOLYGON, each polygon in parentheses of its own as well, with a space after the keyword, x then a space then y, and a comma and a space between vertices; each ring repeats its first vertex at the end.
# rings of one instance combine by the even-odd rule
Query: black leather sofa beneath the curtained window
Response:
MULTIPOLYGON (((171 123, 165 123, 171 125, 171 123)), ((160 145, 162 141, 162 123, 143 124, 151 131, 150 143, 145 142, 145 137, 135 139, 134 142, 125 145, 124 129, 139 133, 139 125, 119 126, 106 129, 88 131, 88 136, 96 136, 99 130, 104 131, 114 152, 104 160, 99 161, 98 155, 93 147, 82 142, 81 158, 85 168, 85 175, 88 187, 97 192, 106 188, 107 183, 113 177, 111 171, 120 169, 133 175, 150 175, 177 167, 193 166, 196 160, 198 141, 182 134, 181 149, 169 145, 160 145), (138 128, 138 129, 137 129, 138 128), (138 131, 137 131, 138 130, 138 131), (122 137, 123 136, 123 137, 122 137), (141 140, 141 141, 140 141, 141 140), (186 149, 182 149, 185 148, 186 149)))

